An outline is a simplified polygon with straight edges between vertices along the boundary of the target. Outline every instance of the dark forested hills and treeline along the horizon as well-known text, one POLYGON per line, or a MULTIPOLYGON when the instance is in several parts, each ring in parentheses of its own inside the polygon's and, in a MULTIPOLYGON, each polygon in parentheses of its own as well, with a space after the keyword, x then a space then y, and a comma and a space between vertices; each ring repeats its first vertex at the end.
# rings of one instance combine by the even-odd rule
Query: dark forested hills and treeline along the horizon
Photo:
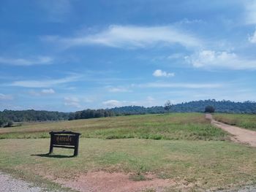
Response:
MULTIPOLYGON (((256 102, 233 102, 233 101, 216 101, 214 99, 204 101, 190 101, 181 104, 173 104, 170 112, 204 112, 206 106, 213 106, 215 112, 228 113, 249 113, 256 114, 256 102)), ((49 112, 37 110, 4 110, 0 111, 0 126, 6 125, 7 122, 14 121, 40 121, 40 120, 74 120, 86 118, 101 118, 116 115, 136 115, 149 113, 165 113, 164 107, 139 107, 126 106, 115 107, 107 110, 82 110, 78 112, 49 112)))

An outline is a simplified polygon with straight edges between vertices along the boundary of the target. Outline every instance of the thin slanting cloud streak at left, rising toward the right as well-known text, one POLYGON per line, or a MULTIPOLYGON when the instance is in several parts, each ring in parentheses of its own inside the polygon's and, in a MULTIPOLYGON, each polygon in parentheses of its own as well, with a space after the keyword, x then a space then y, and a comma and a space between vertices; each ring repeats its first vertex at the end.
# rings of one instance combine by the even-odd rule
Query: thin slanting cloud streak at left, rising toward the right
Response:
POLYGON ((10 85, 24 88, 49 88, 54 85, 60 85, 67 82, 77 81, 79 76, 70 76, 55 80, 22 80, 12 82, 10 85))

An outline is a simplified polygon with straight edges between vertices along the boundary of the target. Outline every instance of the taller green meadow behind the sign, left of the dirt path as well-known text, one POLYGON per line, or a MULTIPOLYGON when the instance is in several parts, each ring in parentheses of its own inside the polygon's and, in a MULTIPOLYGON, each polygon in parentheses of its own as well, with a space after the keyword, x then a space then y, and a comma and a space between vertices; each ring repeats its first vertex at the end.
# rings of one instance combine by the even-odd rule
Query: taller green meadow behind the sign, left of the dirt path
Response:
POLYGON ((52 130, 79 131, 86 138, 225 140, 227 134, 211 126, 200 113, 132 115, 113 118, 38 123, 0 129, 0 139, 48 138, 52 130))

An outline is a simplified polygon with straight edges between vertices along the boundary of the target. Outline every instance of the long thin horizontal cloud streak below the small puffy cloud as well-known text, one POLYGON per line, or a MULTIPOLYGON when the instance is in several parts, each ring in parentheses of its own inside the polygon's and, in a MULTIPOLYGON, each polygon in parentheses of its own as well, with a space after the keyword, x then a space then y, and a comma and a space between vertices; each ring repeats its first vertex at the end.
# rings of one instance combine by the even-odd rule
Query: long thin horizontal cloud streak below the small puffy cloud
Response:
POLYGON ((149 82, 138 85, 139 88, 221 88, 220 83, 170 83, 170 82, 149 82))

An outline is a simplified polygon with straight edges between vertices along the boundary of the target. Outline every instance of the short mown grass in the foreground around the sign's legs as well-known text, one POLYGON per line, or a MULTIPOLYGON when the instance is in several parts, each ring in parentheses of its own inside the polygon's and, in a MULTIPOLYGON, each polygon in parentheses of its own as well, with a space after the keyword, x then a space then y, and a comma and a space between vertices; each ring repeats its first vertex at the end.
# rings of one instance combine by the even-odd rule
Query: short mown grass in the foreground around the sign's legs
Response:
POLYGON ((221 141, 167 141, 151 139, 80 139, 80 154, 54 149, 49 139, 1 139, 0 169, 72 179, 89 171, 133 172, 144 180, 159 178, 197 183, 198 188, 228 188, 256 181, 256 149, 221 141))

